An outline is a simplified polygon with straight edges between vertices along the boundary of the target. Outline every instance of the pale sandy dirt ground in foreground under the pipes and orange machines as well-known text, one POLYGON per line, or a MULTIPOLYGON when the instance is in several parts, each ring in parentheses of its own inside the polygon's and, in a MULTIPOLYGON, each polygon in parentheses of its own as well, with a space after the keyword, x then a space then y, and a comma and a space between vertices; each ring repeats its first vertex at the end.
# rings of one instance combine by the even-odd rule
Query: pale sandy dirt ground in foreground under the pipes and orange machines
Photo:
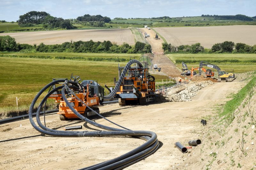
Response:
MULTIPOLYGON (((147 106, 105 105, 100 108, 105 117, 132 130, 154 131, 160 148, 150 157, 126 169, 172 169, 183 161, 182 152, 174 143, 185 144, 197 139, 195 128, 203 128, 201 118, 215 112, 214 107, 227 101, 230 93, 236 93, 245 82, 221 82, 209 85, 197 92, 189 102, 168 102, 147 106)), ((102 119, 98 123, 115 127, 102 119)), ((79 120, 60 121, 58 115, 46 117, 49 128, 63 130, 66 126, 82 125, 84 131, 97 128, 79 120)), ((0 125, 0 140, 40 134, 27 120, 0 125)), ((204 142, 204 141, 202 141, 204 142)), ((1 169, 79 169, 120 156, 144 141, 129 137, 109 138, 58 138, 39 136, 2 142, 0 146, 1 169)), ((200 147, 200 145, 198 146, 200 147)), ((190 150, 193 154, 193 150, 190 150)))

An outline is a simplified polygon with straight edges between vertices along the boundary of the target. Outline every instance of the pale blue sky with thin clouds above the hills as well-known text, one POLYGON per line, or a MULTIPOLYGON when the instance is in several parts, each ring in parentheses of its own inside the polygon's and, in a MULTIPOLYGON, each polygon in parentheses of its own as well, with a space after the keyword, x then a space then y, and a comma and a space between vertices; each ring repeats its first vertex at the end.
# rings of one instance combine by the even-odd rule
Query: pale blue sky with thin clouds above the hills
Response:
POLYGON ((0 0, 0 20, 17 21, 29 11, 45 11, 71 19, 89 15, 121 18, 256 16, 256 0, 0 0))

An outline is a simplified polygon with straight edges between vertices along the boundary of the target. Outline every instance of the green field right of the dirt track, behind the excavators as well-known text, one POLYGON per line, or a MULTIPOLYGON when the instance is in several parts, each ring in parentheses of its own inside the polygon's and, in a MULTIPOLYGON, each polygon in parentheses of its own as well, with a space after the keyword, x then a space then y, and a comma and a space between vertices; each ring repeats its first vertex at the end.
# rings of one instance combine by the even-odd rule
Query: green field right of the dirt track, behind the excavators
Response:
MULTIPOLYGON (((256 54, 167 54, 167 56, 175 63, 175 60, 191 60, 191 62, 186 63, 189 68, 191 67, 199 67, 199 63, 194 63, 193 60, 240 60, 240 61, 248 61, 248 60, 255 60, 256 54)), ((252 70, 256 70, 256 63, 246 63, 246 62, 239 62, 239 63, 211 63, 219 66, 221 69, 234 69, 235 73, 243 73, 252 70)), ((176 64, 177 67, 182 68, 182 64, 176 64)))

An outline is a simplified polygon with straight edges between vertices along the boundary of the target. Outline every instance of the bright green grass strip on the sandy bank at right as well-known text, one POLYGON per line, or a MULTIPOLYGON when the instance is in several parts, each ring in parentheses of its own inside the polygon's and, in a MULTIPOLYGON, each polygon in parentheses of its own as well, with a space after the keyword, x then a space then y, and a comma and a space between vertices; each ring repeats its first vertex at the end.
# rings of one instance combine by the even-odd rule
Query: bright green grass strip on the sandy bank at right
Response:
POLYGON ((251 81, 248 82, 237 94, 233 96, 233 99, 228 101, 223 110, 219 113, 221 121, 225 121, 226 125, 229 125, 235 118, 234 111, 241 105, 247 95, 252 93, 252 89, 256 86, 256 71, 253 73, 251 81))

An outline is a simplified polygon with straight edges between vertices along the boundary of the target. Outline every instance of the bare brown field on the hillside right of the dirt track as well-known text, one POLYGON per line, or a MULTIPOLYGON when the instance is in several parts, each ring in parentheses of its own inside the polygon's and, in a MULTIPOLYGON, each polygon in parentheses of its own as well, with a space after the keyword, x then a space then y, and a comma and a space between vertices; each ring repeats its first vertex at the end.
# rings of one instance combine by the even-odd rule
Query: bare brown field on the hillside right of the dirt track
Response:
POLYGON ((154 28, 168 43, 174 46, 201 43, 211 48, 215 43, 233 41, 235 43, 256 44, 256 26, 229 25, 207 27, 166 27, 154 28))

